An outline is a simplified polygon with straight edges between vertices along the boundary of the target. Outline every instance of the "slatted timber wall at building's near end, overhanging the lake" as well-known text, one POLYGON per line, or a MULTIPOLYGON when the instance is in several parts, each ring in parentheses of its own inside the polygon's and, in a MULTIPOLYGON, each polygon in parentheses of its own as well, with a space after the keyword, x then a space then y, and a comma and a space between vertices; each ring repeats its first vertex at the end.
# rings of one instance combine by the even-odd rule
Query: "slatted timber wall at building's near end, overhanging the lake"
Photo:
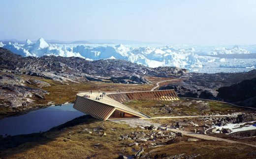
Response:
POLYGON ((115 111, 114 106, 108 106, 80 96, 76 96, 73 107, 99 120, 106 120, 115 111))

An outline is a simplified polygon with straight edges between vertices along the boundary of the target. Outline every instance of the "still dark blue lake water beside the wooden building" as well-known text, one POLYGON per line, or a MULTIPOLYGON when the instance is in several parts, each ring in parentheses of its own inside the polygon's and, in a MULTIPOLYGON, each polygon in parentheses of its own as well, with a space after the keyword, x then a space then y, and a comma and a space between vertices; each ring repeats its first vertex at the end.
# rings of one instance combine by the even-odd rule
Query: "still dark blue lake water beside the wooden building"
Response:
POLYGON ((49 106, 24 115, 1 119, 0 134, 4 137, 5 134, 17 135, 45 132, 82 115, 84 113, 74 109, 73 104, 49 106))

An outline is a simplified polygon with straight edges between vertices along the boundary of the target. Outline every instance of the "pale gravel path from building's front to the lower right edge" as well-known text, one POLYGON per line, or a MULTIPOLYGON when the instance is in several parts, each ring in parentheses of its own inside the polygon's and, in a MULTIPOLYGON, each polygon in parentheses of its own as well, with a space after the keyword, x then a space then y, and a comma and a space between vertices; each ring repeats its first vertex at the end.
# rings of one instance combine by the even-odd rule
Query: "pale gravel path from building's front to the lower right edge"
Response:
MULTIPOLYGON (((122 120, 111 120, 111 121, 116 122, 116 123, 126 123, 133 128, 135 128, 139 125, 144 126, 144 127, 150 126, 150 125, 154 125, 155 127, 160 127, 159 123, 152 123, 148 120, 143 120, 143 119, 122 119, 122 120)), ((161 128, 164 129, 165 127, 161 127, 161 128)), ((245 144, 248 146, 256 147, 256 145, 252 145, 252 144, 248 144, 248 143, 228 140, 228 139, 224 139, 224 138, 220 138, 220 137, 214 137, 214 136, 209 136, 209 135, 199 134, 199 133, 194 133, 194 132, 187 132, 187 131, 183 131, 183 130, 179 130, 179 129, 170 129, 170 131, 181 132, 183 135, 201 138, 201 139, 205 139, 205 140, 216 140, 216 141, 224 141, 224 142, 228 142, 228 143, 239 143, 239 144, 245 144)))

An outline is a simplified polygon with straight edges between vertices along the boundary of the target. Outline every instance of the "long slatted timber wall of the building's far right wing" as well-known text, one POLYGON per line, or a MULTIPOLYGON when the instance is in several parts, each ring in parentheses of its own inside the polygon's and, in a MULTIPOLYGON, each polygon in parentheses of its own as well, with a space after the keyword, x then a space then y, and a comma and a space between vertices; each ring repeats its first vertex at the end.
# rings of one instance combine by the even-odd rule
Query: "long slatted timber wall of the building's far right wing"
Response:
POLYGON ((143 91, 108 94, 108 97, 120 103, 131 100, 179 100, 177 93, 171 90, 143 91))

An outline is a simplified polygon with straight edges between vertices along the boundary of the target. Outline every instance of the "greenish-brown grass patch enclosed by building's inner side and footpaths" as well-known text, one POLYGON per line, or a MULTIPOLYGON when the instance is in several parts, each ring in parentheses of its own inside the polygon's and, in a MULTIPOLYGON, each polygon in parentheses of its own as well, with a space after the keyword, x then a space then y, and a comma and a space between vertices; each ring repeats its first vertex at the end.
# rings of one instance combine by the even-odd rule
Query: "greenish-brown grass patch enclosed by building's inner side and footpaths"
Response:
POLYGON ((180 99, 176 101, 130 101, 124 103, 139 112, 150 117, 162 116, 193 116, 193 115, 214 115, 231 114, 235 112, 251 112, 242 107, 235 107, 228 104, 212 101, 201 101, 195 99, 180 99), (165 107, 163 106, 165 105, 165 107), (172 111, 169 113, 165 108, 169 107, 172 111))

